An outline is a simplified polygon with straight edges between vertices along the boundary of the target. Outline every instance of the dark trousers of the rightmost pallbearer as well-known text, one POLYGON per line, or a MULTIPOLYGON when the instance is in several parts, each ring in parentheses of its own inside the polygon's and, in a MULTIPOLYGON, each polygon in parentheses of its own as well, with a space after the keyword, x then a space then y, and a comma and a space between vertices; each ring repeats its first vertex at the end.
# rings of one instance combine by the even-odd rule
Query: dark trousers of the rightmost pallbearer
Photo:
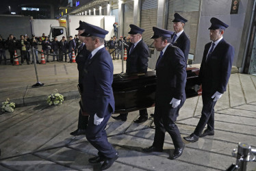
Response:
POLYGON ((217 101, 213 101, 212 95, 213 94, 202 93, 203 109, 201 111, 199 123, 194 130, 194 134, 197 136, 201 135, 206 124, 207 129, 210 131, 214 130, 214 106, 217 101))

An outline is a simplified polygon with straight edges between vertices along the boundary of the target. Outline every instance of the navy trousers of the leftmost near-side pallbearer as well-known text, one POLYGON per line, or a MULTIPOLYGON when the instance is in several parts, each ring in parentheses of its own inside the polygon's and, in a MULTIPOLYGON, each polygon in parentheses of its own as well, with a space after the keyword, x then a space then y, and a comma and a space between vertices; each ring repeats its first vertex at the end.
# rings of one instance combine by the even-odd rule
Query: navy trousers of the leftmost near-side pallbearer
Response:
POLYGON ((99 156, 107 158, 114 158, 116 156, 116 150, 110 142, 107 141, 107 133, 105 131, 105 127, 107 126, 107 122, 110 119, 111 114, 112 111, 105 114, 103 121, 99 125, 94 124, 94 114, 90 114, 86 129, 86 138, 88 142, 99 150, 99 156))

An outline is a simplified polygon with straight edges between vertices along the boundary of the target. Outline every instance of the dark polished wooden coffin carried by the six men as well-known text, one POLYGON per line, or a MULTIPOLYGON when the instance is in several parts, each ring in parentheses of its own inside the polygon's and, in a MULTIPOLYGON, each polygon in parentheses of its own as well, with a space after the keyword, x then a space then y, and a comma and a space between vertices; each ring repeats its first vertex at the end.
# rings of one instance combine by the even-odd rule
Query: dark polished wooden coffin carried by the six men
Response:
MULTIPOLYGON (((198 83, 199 68, 187 68, 187 83, 185 94, 187 98, 201 95, 201 90, 196 90, 198 83)), ((146 74, 114 75, 112 88, 115 98, 115 114, 127 113, 139 109, 153 107, 155 105, 155 71, 148 71, 146 74)))

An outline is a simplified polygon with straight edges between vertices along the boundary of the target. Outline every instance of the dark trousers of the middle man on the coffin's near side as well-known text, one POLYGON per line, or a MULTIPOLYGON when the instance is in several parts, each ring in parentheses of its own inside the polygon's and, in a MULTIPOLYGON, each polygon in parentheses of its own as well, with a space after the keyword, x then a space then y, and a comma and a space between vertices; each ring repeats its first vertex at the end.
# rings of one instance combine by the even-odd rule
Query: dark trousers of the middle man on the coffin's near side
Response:
POLYGON ((179 116, 179 109, 181 109, 183 103, 184 101, 181 99, 181 104, 176 108, 172 108, 172 105, 170 104, 155 104, 155 137, 153 146, 156 148, 163 148, 166 131, 172 138, 175 148, 182 148, 183 142, 181 140, 181 133, 175 122, 179 116))

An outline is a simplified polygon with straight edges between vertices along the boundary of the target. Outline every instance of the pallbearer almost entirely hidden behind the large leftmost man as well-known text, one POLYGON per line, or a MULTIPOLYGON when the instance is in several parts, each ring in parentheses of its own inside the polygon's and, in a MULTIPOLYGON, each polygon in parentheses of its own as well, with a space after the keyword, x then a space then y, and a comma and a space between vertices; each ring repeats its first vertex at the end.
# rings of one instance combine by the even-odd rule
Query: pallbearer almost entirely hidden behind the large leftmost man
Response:
MULTIPOLYGON (((86 60, 88 55, 90 55, 90 51, 86 49, 85 37, 80 36, 84 33, 86 28, 86 23, 79 21, 79 27, 76 29, 78 31, 78 38, 82 42, 78 47, 77 57, 75 57, 75 62, 77 62, 77 70, 78 70, 78 88, 80 94, 83 92, 83 75, 84 75, 84 65, 86 64, 86 60)), ((77 130, 73 131, 71 135, 86 135, 86 127, 88 124, 88 116, 83 116, 81 114, 81 109, 79 109, 79 118, 78 118, 78 125, 77 130)))

